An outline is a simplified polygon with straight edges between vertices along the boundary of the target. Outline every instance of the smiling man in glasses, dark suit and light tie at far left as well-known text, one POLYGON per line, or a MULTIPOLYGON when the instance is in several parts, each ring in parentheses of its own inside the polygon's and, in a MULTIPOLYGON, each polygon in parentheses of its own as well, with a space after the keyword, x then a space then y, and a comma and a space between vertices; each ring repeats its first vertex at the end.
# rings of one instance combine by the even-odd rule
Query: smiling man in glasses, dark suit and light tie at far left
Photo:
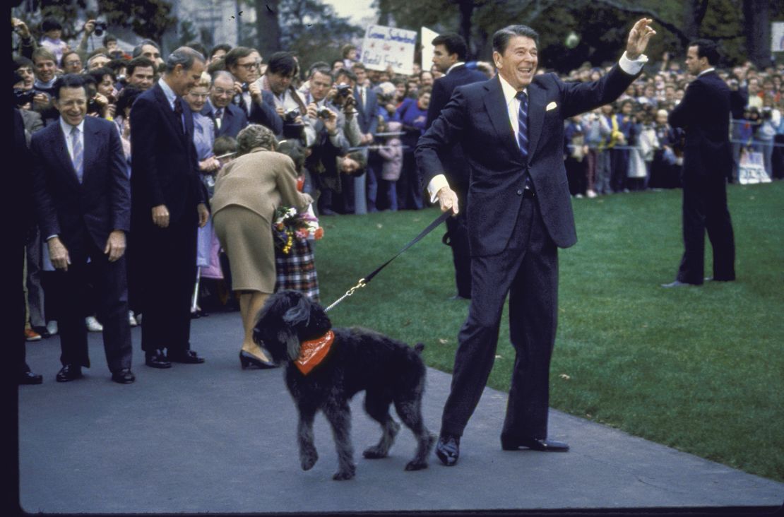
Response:
POLYGON ((56 268, 53 293, 63 364, 56 380, 78 379, 82 366, 90 366, 85 309, 92 262, 111 378, 129 384, 135 380, 125 276, 131 199, 120 135, 111 122, 85 117, 88 93, 82 76, 58 79, 53 97, 60 119, 33 133, 31 153, 38 224, 56 268))

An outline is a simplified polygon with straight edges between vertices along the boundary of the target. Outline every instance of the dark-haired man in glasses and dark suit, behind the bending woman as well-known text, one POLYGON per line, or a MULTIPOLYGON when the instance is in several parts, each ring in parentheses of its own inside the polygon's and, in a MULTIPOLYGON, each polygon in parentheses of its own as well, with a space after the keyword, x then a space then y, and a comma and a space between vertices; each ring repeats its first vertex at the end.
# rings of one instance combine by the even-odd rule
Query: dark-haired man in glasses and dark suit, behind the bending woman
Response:
MULTIPOLYGON (((227 71, 234 76, 232 104, 245 112, 250 123, 266 126, 272 129, 275 135, 280 136, 283 133, 283 119, 275 111, 272 93, 265 92, 258 82, 261 64, 259 52, 256 49, 238 46, 226 54, 224 63, 227 71)), ((221 87, 221 91, 226 89, 225 86, 221 87)), ((223 112, 220 115, 223 116, 223 112)))

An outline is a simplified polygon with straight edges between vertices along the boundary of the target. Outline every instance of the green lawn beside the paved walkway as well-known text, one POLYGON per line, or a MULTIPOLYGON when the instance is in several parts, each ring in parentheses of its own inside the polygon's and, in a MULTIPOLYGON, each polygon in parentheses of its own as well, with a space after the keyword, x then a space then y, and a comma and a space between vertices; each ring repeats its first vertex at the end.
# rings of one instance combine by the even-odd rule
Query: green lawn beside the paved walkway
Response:
MULTIPOLYGON (((579 242, 561 250, 550 403, 784 481, 784 182, 731 186, 737 282, 662 289, 683 252, 681 191, 575 199, 579 242), (775 431, 779 429, 779 431, 775 431)), ((316 260, 332 303, 437 217, 436 209, 323 217, 316 260)), ((426 344, 450 371, 467 302, 454 294, 443 231, 428 235, 330 312, 426 344)), ((710 275, 710 246, 706 275, 710 275)), ((489 384, 506 391, 506 313, 489 384)))

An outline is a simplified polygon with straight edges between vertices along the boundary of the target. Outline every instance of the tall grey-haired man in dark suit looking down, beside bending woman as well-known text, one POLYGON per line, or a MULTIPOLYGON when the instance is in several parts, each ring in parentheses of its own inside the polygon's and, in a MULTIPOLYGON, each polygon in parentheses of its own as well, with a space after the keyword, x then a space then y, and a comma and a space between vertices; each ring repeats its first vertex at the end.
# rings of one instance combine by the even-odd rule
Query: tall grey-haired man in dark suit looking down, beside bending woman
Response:
POLYGON ((180 47, 165 74, 131 110, 131 286, 139 289, 145 364, 204 362, 191 350, 196 228, 207 223, 191 110, 183 95, 198 84, 205 58, 180 47), (166 355, 163 351, 166 349, 166 355))

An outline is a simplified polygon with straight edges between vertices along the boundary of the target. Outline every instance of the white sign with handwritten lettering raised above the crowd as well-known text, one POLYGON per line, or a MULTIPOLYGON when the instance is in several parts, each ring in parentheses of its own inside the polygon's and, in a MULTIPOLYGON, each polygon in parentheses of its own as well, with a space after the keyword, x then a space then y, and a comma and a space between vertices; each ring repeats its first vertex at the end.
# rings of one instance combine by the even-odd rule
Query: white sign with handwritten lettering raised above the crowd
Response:
POLYGON ((396 74, 412 74, 416 31, 383 25, 370 25, 362 42, 362 63, 370 70, 387 70, 396 74))

